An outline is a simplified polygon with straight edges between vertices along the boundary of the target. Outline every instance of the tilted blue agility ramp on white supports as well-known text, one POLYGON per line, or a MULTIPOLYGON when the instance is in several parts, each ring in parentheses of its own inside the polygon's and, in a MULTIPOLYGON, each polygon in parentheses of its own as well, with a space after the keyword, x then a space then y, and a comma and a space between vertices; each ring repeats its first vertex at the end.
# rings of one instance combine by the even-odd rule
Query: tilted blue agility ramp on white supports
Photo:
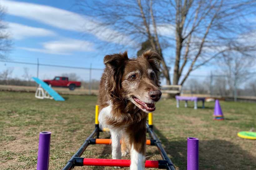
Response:
POLYGON ((39 87, 37 88, 37 91, 36 91, 36 95, 35 95, 36 98, 38 98, 38 99, 44 99, 44 98, 52 99, 53 98, 56 101, 65 101, 65 99, 61 95, 59 95, 55 90, 53 90, 45 82, 43 82, 42 80, 40 80, 36 77, 32 77, 32 79, 35 80, 35 82, 39 85, 39 87), (45 90, 46 93, 44 93, 43 90, 45 90), (49 94, 52 97, 47 96, 47 94, 49 94))

